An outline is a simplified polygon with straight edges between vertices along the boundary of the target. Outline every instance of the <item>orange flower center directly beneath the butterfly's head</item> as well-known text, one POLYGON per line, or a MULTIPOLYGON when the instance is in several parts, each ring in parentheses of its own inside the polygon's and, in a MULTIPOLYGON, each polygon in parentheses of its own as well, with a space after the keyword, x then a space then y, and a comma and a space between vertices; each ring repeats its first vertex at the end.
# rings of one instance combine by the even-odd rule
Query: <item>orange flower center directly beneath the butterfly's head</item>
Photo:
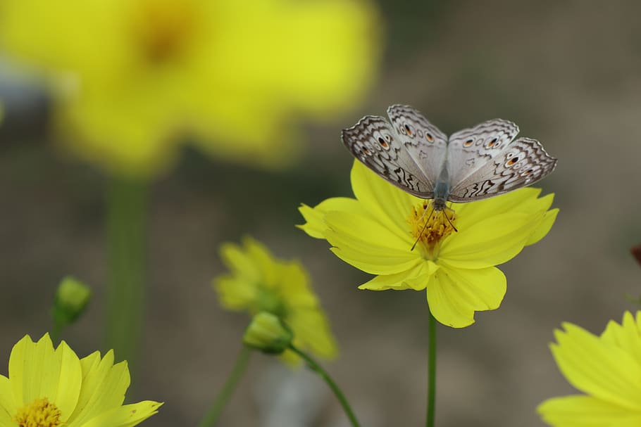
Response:
POLYGON ((416 239, 416 246, 427 260, 435 260, 442 241, 456 231, 454 210, 435 210, 427 200, 412 207, 407 221, 411 235, 416 239))

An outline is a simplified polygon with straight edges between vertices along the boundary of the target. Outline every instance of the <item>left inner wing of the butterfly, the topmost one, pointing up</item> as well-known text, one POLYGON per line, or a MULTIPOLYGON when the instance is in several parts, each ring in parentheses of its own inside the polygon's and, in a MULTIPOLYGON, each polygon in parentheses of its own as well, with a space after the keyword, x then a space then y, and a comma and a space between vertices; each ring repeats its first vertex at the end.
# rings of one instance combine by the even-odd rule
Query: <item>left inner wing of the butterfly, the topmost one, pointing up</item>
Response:
POLYGON ((447 135, 411 106, 391 106, 387 115, 399 140, 433 186, 447 153, 447 135))

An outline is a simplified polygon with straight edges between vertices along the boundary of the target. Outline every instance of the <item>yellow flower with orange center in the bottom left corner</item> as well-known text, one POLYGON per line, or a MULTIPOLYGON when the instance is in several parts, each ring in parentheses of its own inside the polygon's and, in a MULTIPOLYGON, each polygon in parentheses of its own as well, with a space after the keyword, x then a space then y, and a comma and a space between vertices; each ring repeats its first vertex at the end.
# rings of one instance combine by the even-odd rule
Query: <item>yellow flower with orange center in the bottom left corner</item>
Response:
POLYGON ((129 387, 126 362, 113 364, 113 351, 78 359, 62 341, 54 350, 49 335, 37 343, 18 341, 0 375, 0 426, 125 427, 158 412, 149 400, 123 405, 129 387))

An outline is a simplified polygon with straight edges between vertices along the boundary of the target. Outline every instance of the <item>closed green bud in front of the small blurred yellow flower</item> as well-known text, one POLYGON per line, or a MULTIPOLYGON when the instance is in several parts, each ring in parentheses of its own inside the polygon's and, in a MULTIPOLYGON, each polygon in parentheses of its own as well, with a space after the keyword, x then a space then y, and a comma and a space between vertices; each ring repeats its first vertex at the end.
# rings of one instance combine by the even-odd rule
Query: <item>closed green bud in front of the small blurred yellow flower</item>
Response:
POLYGON ((259 312, 247 326, 242 342, 251 348, 270 355, 280 355, 292 343, 294 334, 279 317, 269 312, 259 312))

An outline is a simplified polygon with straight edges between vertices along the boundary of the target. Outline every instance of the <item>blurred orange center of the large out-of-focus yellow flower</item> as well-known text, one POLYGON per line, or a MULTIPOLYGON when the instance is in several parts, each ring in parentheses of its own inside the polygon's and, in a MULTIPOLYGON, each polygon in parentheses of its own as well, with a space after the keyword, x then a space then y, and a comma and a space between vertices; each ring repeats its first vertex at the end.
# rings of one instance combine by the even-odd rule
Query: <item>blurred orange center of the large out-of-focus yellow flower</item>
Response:
POLYGON ((143 0, 135 15, 135 38, 151 64, 168 63, 189 47, 197 11, 189 1, 143 0))

